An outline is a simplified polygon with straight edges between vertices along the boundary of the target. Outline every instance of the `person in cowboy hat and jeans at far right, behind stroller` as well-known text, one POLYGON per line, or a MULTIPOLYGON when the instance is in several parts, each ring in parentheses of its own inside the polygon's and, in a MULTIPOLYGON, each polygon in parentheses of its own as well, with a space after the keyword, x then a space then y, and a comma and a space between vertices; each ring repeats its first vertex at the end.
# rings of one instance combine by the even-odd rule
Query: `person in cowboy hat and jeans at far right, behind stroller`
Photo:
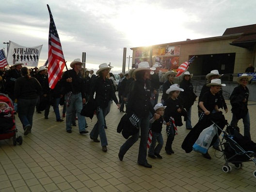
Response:
POLYGON ((248 97, 249 97, 249 89, 247 88, 248 81, 252 79, 252 76, 248 76, 247 74, 242 74, 237 78, 237 82, 240 83, 239 86, 235 87, 231 96, 230 96, 230 104, 232 106, 232 120, 230 125, 232 127, 236 127, 238 125, 238 121, 240 119, 243 120, 244 126, 244 136, 247 139, 251 140, 250 133, 250 115, 248 111, 248 97))

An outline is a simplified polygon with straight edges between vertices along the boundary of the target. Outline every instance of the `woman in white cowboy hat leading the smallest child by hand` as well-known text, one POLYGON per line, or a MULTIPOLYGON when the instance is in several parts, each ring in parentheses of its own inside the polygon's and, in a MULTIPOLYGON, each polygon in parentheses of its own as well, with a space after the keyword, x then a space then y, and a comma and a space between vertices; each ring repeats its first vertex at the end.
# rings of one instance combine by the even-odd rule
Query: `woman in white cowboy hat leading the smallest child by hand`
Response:
MULTIPOLYGON (((147 62, 141 62, 133 74, 136 76, 136 80, 129 85, 129 96, 127 101, 126 112, 128 114, 135 114, 139 119, 137 126, 140 128, 141 141, 139 146, 138 164, 147 168, 151 168, 152 165, 148 164, 146 160, 147 156, 147 139, 149 128, 149 113, 151 112, 156 117, 157 114, 154 110, 151 102, 151 86, 150 86, 150 68, 147 62)), ((160 116, 160 115, 159 115, 160 116)), ((128 140, 120 147, 118 157, 123 160, 124 155, 128 149, 135 144, 139 139, 139 132, 132 135, 128 140)))

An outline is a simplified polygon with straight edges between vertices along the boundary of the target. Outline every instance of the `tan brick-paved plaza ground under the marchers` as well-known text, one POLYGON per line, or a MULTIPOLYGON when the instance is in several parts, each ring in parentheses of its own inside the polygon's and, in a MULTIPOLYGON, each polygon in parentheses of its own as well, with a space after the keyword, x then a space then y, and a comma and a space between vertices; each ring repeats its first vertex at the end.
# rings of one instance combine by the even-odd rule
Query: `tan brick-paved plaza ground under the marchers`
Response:
MULTIPOLYGON (((228 103, 228 101, 227 101, 228 103)), ((256 141, 256 102, 249 102, 251 134, 256 141)), ((197 103, 192 108, 192 125, 198 121, 197 103)), ((231 106, 225 118, 231 120, 231 106)), ((62 111, 62 108, 61 108, 62 111)), ((23 135, 16 115, 16 127, 23 144, 14 146, 12 140, 0 141, 0 192, 255 192, 256 170, 254 162, 244 162, 241 169, 231 164, 232 171, 224 173, 222 152, 210 148, 212 160, 201 154, 186 154, 181 144, 189 130, 178 127, 174 141, 175 154, 161 151, 162 160, 148 159, 152 169, 138 165, 139 142, 118 159, 118 151, 125 142, 116 127, 123 113, 113 103, 106 117, 108 152, 89 135, 80 135, 77 127, 72 133, 65 131, 65 121, 56 122, 54 112, 49 119, 34 114, 32 133, 23 135)), ((96 117, 86 118, 91 130, 96 117)), ((243 132, 242 122, 239 122, 243 132)), ((164 141, 166 133, 162 131, 164 141)))

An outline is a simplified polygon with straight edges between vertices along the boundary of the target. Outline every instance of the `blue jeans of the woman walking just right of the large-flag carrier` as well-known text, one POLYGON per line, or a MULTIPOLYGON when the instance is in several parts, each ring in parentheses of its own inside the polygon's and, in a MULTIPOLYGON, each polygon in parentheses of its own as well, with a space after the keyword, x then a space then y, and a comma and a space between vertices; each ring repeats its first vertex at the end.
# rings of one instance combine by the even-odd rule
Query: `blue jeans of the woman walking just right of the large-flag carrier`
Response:
POLYGON ((97 122, 94 125, 94 128, 92 129, 90 136, 94 139, 97 139, 98 136, 100 138, 100 143, 101 146, 107 146, 108 145, 108 141, 107 141, 107 136, 106 136, 106 132, 105 132, 105 117, 108 113, 108 107, 106 108, 100 108, 98 114, 97 115, 97 122))

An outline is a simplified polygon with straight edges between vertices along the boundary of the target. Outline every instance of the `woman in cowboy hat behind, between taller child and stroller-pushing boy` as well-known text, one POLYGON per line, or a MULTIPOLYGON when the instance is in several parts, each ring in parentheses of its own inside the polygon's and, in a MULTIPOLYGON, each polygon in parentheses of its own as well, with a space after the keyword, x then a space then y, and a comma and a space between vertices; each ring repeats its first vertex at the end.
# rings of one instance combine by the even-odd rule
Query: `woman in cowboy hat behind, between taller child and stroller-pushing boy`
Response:
POLYGON ((189 71, 186 71, 185 73, 182 74, 181 76, 182 81, 179 84, 179 87, 184 89, 184 91, 180 92, 179 98, 181 99, 183 108, 185 108, 187 111, 187 116, 188 116, 188 119, 186 120, 187 129, 192 129, 191 110, 192 110, 192 105, 194 104, 194 101, 196 99, 196 95, 194 94, 194 91, 193 91, 193 85, 190 82, 192 77, 193 77, 193 74, 190 74, 189 71))

